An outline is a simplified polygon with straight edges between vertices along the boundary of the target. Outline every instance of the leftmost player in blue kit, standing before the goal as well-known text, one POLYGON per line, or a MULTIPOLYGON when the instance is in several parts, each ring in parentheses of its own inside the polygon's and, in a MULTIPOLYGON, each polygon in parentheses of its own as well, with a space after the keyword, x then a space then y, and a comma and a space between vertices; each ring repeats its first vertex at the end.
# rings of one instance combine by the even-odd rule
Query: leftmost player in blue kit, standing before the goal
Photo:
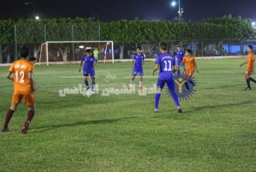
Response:
POLYGON ((86 55, 82 58, 80 62, 79 71, 81 71, 81 66, 84 62, 84 83, 87 86, 86 91, 89 90, 88 77, 90 74, 91 77, 91 91, 94 91, 95 88, 95 67, 96 67, 96 58, 91 55, 91 50, 87 49, 85 51, 86 55))

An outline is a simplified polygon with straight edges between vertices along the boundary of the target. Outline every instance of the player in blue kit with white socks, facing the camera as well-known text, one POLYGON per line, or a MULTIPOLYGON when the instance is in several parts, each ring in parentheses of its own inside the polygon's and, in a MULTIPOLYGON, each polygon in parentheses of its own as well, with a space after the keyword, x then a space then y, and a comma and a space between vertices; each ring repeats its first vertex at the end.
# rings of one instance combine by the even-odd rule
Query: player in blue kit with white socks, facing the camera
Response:
POLYGON ((137 54, 134 55, 134 59, 132 60, 132 67, 134 67, 134 70, 132 72, 132 80, 130 82, 129 88, 132 88, 132 85, 134 84, 134 79, 136 75, 139 73, 139 89, 142 89, 142 77, 143 68, 145 68, 145 57, 142 53, 141 46, 137 47, 137 54))

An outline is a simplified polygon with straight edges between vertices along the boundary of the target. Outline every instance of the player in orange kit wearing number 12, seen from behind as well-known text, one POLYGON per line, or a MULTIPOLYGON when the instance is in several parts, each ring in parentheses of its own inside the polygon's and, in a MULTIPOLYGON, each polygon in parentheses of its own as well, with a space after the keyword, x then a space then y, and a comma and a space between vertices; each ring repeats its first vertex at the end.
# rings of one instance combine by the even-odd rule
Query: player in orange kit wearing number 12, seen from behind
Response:
POLYGON ((29 49, 23 46, 20 49, 20 60, 13 62, 9 68, 8 73, 6 74, 7 79, 11 79, 14 85, 13 98, 11 100, 11 107, 6 114, 6 119, 4 121, 4 126, 1 129, 2 132, 8 131, 8 123, 13 116, 18 104, 22 102, 23 98, 25 99, 25 105, 27 105, 28 113, 27 120, 22 129, 22 133, 27 133, 29 124, 31 123, 34 117, 34 94, 33 92, 37 90, 37 87, 34 85, 32 78, 32 72, 34 70, 34 65, 32 62, 27 60, 29 55, 29 49), (11 74, 14 77, 11 77, 11 74))

